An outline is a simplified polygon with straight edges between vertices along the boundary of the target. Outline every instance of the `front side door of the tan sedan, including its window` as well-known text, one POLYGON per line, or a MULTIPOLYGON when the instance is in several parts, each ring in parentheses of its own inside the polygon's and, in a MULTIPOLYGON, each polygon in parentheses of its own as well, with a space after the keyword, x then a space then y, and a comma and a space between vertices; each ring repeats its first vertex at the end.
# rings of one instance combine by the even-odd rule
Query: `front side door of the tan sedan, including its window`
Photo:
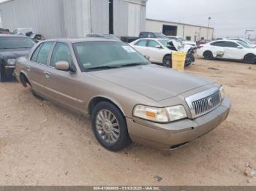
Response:
POLYGON ((56 62, 66 61, 76 69, 69 44, 56 42, 50 56, 48 69, 45 70, 48 97, 71 109, 83 112, 83 87, 78 80, 78 71, 55 69, 56 62))

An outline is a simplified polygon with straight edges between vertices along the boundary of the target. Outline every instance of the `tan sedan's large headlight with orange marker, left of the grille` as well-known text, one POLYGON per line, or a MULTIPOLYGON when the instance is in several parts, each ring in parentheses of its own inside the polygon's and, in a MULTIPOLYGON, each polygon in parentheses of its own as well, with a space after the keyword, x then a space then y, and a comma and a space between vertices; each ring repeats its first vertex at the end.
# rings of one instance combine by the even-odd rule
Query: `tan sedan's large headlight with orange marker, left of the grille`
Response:
POLYGON ((133 110, 135 117, 154 122, 173 122, 187 117, 184 106, 171 106, 167 108, 157 108, 152 106, 135 106, 133 110))

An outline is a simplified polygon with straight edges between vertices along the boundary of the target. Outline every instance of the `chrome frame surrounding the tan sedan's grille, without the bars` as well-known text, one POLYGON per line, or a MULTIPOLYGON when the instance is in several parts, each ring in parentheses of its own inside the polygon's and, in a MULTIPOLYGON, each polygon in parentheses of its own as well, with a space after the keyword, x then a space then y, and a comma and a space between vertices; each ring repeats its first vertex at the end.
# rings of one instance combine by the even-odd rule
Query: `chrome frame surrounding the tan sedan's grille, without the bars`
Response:
MULTIPOLYGON (((199 116, 196 115, 195 108, 194 108, 192 103, 194 101, 200 101, 201 99, 206 98, 206 97, 211 96, 211 95, 214 95, 215 93, 218 93, 218 92, 219 92, 219 88, 218 87, 213 87, 213 88, 211 88, 209 90, 206 90, 206 91, 203 91, 203 92, 200 92, 200 93, 197 93, 195 95, 191 95, 191 96, 185 98, 185 101, 187 102, 187 105, 189 106, 189 110, 191 112, 191 115, 192 115, 193 119, 195 119, 196 117, 199 117, 199 116)), ((219 105, 217 105, 217 106, 219 106, 219 105)), ((208 110, 206 113, 211 112, 212 110, 216 109, 217 106, 214 107, 211 110, 208 110)), ((204 114, 206 114, 206 113, 204 113, 204 114)))

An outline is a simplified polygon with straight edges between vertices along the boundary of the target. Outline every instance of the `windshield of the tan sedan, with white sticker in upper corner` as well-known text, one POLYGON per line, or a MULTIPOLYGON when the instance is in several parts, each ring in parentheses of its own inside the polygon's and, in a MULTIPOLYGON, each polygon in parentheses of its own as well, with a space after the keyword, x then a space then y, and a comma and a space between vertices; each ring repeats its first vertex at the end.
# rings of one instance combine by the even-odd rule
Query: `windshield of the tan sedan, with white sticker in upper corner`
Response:
POLYGON ((73 47, 82 71, 149 64, 124 42, 79 42, 73 47))

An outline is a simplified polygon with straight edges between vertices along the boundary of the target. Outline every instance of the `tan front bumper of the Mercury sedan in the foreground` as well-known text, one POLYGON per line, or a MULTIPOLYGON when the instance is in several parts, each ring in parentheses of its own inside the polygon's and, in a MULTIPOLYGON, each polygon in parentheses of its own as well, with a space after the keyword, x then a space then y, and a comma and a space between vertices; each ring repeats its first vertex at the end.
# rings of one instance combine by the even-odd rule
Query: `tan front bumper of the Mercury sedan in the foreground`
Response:
POLYGON ((185 119, 168 124, 148 122, 137 117, 127 119, 129 136, 132 141, 157 149, 177 148, 217 128, 226 120, 230 107, 230 100, 225 98, 217 109, 195 120, 185 119))

